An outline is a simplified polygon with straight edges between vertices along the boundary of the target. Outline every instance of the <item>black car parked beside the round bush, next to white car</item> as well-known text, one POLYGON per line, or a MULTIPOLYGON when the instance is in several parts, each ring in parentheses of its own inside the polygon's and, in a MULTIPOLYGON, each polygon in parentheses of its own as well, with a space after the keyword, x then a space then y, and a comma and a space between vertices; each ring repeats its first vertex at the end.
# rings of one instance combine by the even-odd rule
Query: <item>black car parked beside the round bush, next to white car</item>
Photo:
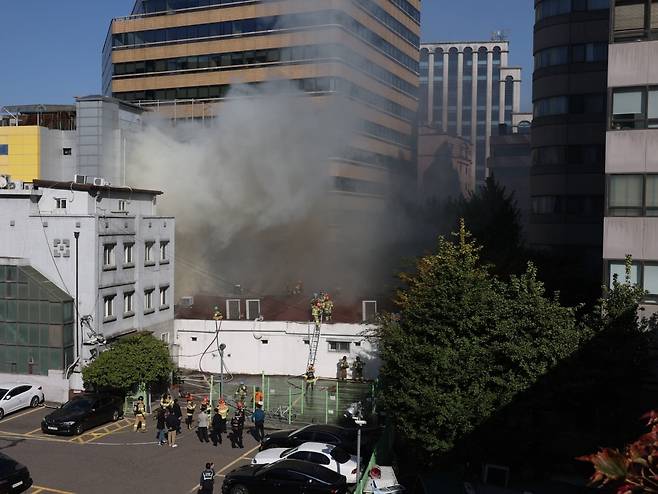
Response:
POLYGON ((82 393, 41 421, 41 430, 48 434, 82 434, 87 429, 123 416, 123 399, 118 396, 82 393))

